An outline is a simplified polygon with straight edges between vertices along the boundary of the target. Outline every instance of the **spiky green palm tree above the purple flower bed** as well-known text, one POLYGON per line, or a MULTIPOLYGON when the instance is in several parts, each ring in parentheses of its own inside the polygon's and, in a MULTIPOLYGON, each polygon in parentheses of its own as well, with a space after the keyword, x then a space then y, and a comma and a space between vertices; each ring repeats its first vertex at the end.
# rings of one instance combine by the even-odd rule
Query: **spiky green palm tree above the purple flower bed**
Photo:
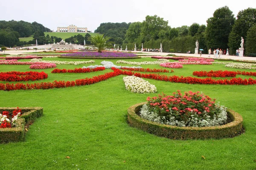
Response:
POLYGON ((104 34, 98 34, 95 37, 90 37, 90 42, 95 46, 93 48, 99 53, 101 53, 105 48, 111 48, 113 46, 113 42, 107 42, 108 40, 109 38, 104 37, 104 34))

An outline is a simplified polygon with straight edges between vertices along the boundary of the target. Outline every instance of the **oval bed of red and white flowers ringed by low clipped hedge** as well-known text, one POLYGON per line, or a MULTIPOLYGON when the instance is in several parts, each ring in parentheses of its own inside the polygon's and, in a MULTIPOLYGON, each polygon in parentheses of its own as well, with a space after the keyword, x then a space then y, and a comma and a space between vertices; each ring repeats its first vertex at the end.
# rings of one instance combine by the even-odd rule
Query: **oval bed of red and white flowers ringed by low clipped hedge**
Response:
POLYGON ((170 139, 221 139, 242 132, 243 119, 238 113, 198 92, 181 96, 178 91, 147 100, 128 108, 128 122, 148 133, 170 139))

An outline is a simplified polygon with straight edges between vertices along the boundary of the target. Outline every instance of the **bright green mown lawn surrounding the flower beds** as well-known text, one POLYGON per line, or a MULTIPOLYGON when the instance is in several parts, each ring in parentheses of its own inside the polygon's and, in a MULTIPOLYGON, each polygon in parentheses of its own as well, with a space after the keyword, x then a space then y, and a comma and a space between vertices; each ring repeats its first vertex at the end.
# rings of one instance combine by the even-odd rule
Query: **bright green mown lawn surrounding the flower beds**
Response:
MULTIPOLYGON (((103 60, 95 61, 93 65, 100 65, 103 60)), ((116 64, 117 60, 109 61, 116 64)), ((57 65, 57 68, 73 69, 82 66, 84 65, 57 65)), ((162 68, 159 65, 142 67, 162 68)), ((0 65, 0 70, 31 71, 29 65, 0 65)), ((183 68, 173 70, 174 73, 159 74, 192 76, 193 71, 239 69, 214 64, 183 65, 183 68)), ((111 70, 86 74, 51 74, 52 69, 33 71, 45 71, 48 74, 48 79, 36 82, 53 82, 93 77, 111 70)), ((243 116, 245 133, 235 138, 180 141, 160 138, 127 124, 127 108, 157 94, 131 93, 125 89, 122 77, 120 75, 104 82, 73 88, 0 91, 0 107, 44 108, 44 116, 29 127, 25 142, 0 144, 0 169, 255 169, 256 85, 190 85, 147 79, 157 87, 157 94, 172 94, 177 90, 202 91, 243 116), (65 158, 66 156, 70 159, 65 158)))

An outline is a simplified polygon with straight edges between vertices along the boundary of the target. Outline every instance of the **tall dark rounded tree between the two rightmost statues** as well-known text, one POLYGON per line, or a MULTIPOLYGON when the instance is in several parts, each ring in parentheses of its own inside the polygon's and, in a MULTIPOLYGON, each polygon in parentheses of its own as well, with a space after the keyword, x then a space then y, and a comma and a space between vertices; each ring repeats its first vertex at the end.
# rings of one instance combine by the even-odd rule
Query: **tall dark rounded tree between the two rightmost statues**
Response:
POLYGON ((235 23, 235 17, 227 6, 218 8, 208 18, 205 38, 207 48, 227 48, 228 37, 235 23))

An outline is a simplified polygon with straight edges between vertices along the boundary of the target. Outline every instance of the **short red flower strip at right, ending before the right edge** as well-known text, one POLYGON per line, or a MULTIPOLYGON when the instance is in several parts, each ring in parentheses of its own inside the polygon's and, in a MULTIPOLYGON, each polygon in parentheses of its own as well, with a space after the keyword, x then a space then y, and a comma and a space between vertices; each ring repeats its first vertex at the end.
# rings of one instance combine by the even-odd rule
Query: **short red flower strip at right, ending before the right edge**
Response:
POLYGON ((236 77, 236 71, 194 71, 193 75, 197 77, 236 77))

